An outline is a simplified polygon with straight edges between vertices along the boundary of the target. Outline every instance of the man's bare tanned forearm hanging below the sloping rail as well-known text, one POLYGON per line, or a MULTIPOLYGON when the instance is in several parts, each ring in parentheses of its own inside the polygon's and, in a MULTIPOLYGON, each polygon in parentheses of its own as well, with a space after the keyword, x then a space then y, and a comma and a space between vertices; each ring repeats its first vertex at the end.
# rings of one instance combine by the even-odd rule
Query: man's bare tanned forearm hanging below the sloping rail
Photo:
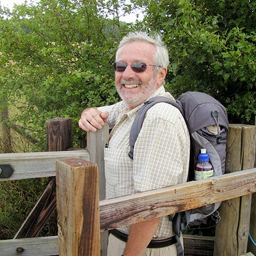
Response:
POLYGON ((146 220, 130 226, 124 256, 141 256, 156 233, 159 218, 146 220))

